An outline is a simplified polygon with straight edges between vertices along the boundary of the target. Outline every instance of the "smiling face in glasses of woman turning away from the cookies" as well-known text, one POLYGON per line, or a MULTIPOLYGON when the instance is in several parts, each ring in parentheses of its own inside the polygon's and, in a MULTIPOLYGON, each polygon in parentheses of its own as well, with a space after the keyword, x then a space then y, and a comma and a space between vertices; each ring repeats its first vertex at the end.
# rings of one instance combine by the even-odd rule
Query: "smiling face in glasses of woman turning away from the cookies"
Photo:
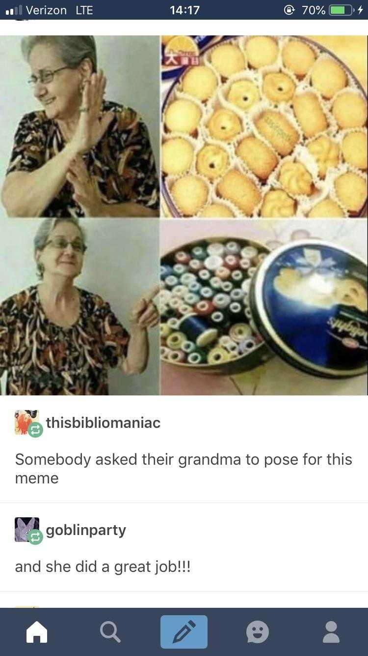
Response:
POLYGON ((37 78, 34 94, 41 102, 49 119, 68 119, 78 112, 81 104, 81 72, 79 68, 65 68, 54 74, 52 82, 43 83, 39 77, 46 71, 67 66, 48 43, 37 43, 29 55, 31 75, 37 78))

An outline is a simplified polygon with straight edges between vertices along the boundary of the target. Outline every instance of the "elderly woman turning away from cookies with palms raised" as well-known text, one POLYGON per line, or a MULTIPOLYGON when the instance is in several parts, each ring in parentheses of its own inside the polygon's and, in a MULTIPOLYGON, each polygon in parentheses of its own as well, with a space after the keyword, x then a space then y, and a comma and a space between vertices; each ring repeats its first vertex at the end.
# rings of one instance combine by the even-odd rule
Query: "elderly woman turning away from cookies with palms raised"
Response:
POLYGON ((22 39, 42 110, 14 138, 2 200, 10 216, 157 216, 158 179, 147 128, 103 100, 92 36, 22 39))

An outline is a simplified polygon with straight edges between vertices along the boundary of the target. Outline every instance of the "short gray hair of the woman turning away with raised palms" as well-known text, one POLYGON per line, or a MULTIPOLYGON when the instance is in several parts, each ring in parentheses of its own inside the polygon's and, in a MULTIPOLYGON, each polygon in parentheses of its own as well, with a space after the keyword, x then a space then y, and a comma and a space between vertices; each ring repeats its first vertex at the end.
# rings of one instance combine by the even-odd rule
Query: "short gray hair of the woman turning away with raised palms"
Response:
POLYGON ((89 59, 92 72, 97 71, 96 41, 88 36, 29 36, 21 42, 22 54, 26 62, 37 43, 46 43, 57 49, 66 66, 78 68, 84 59, 89 59))

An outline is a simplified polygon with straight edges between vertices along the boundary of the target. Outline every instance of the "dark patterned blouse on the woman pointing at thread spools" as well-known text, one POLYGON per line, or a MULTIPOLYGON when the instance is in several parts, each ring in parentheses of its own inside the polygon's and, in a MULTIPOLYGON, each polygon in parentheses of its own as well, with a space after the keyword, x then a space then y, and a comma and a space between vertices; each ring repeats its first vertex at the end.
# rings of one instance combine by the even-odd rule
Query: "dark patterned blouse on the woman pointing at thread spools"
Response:
POLYGON ((70 328, 43 312, 37 285, 0 304, 0 375, 7 394, 109 394, 108 367, 128 349, 129 335, 109 303, 79 289, 81 311, 70 328))

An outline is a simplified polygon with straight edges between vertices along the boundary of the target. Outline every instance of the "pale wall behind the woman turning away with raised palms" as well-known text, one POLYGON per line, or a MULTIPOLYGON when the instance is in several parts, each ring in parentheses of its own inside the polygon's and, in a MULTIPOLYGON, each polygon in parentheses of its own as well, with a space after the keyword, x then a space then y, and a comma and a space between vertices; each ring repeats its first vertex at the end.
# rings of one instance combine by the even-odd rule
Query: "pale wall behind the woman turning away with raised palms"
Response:
MULTIPOLYGON (((7 169, 22 116, 39 110, 27 84, 29 66, 20 51, 21 36, 0 40, 0 180, 7 169)), ((160 135, 160 51, 157 36, 96 36, 98 66, 107 76, 105 98, 136 110, 145 121, 158 170, 160 135)))

